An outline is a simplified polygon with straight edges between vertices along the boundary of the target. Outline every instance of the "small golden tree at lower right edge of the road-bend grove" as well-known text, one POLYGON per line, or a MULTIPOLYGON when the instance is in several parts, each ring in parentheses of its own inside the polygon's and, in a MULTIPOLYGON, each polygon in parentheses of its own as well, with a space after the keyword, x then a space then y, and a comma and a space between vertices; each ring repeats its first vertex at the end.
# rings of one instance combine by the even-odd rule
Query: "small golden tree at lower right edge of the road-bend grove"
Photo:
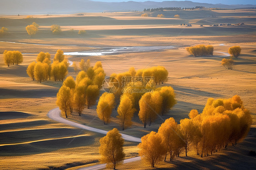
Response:
POLYGON ((95 105, 99 93, 100 90, 97 85, 88 85, 85 97, 87 109, 89 109, 90 106, 95 105))

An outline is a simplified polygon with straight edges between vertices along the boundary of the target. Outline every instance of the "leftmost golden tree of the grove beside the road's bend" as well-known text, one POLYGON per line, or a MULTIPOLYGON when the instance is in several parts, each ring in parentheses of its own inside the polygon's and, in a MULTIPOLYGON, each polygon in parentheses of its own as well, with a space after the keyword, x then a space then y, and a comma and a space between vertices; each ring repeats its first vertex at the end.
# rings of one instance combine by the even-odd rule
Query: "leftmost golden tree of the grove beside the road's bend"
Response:
POLYGON ((59 106, 61 113, 67 118, 70 114, 71 105, 71 89, 65 85, 62 85, 57 93, 56 105, 59 106))

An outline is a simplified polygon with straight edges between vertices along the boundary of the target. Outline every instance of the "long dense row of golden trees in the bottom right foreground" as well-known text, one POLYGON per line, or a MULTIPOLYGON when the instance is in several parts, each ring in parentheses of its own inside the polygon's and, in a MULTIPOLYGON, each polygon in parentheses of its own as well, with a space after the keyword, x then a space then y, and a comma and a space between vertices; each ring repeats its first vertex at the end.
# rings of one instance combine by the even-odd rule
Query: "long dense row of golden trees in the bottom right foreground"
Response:
POLYGON ((195 150, 197 155, 210 155, 228 145, 236 145, 250 130, 252 118, 238 95, 230 99, 210 98, 201 114, 191 110, 189 119, 165 120, 158 132, 141 138, 139 155, 154 167, 170 156, 173 160, 184 150, 195 150))

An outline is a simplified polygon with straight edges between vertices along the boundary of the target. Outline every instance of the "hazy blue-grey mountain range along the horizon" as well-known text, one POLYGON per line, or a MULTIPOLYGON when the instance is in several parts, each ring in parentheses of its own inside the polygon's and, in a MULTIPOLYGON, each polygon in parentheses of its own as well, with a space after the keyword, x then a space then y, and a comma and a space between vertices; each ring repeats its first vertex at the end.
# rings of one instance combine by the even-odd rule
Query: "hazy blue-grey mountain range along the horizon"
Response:
POLYGON ((158 7, 195 7, 211 8, 251 8, 256 5, 224 5, 207 4, 192 1, 145 1, 145 2, 100 2, 91 0, 0 0, 0 15, 27 15, 27 14, 64 14, 79 12, 103 11, 142 11, 144 8, 158 7))

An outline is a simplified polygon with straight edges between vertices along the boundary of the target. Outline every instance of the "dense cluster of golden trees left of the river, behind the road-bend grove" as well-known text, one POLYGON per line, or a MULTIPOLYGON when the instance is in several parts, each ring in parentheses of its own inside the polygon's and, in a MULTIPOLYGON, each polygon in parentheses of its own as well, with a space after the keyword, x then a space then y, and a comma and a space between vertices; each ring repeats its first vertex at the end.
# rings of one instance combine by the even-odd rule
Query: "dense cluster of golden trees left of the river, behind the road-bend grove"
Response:
POLYGON ((53 63, 51 63, 51 55, 49 53, 40 52, 37 55, 36 62, 31 62, 27 69, 27 75, 32 80, 40 81, 51 80, 51 77, 56 80, 63 81, 67 75, 68 60, 65 59, 62 50, 57 50, 53 63))

